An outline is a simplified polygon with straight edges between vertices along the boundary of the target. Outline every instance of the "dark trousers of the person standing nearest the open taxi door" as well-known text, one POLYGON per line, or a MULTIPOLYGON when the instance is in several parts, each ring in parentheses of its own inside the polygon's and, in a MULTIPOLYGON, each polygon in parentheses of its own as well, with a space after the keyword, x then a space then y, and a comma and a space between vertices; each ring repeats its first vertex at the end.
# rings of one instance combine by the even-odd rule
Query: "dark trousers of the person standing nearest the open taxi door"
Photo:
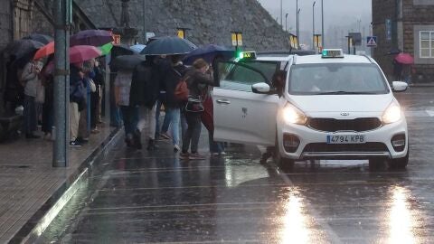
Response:
POLYGON ((197 147, 199 145, 199 137, 201 136, 202 120, 201 113, 185 113, 185 119, 187 121, 187 130, 183 138, 183 153, 188 152, 188 148, 191 146, 192 154, 197 153, 197 147))

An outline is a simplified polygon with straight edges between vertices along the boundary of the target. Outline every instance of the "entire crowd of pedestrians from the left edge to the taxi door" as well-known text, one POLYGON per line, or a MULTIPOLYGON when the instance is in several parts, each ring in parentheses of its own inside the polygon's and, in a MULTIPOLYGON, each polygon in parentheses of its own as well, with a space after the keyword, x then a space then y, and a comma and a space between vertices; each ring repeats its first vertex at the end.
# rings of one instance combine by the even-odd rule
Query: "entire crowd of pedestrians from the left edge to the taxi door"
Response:
MULTIPOLYGON (((23 106, 24 126, 21 131, 25 138, 40 138, 41 134, 37 132, 39 124, 43 139, 53 140, 54 54, 40 59, 33 59, 34 56, 35 52, 29 53, 27 59, 20 58, 20 61, 14 60, 13 55, 10 57, 5 106, 11 114, 23 106)), ((174 153, 179 153, 184 159, 204 158, 198 145, 202 127, 205 127, 210 153, 224 155, 224 145, 213 140, 212 62, 197 58, 193 65, 186 66, 183 58, 182 54, 146 55, 146 59, 134 66, 112 70, 116 76, 110 84, 111 107, 114 108, 111 114, 117 119, 110 126, 123 125, 128 147, 142 149, 142 136, 149 151, 158 149, 159 141, 168 140, 174 153), (179 89, 182 88, 187 90, 188 96, 180 98, 179 89), (160 121, 162 111, 165 116, 160 121), (148 128, 146 131, 145 127, 148 128)), ((99 133, 103 124, 101 99, 105 90, 105 70, 102 67, 104 65, 99 64, 98 58, 71 61, 71 146, 88 143, 91 134, 99 133)))

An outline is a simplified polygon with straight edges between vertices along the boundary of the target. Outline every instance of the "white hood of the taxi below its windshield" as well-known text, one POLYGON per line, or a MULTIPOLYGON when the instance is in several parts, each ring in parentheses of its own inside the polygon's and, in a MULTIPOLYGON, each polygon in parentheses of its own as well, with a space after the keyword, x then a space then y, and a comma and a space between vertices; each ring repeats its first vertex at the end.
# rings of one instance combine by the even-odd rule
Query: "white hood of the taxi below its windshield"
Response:
POLYGON ((393 100, 391 94, 381 95, 315 95, 290 96, 290 103, 310 112, 382 112, 393 100))

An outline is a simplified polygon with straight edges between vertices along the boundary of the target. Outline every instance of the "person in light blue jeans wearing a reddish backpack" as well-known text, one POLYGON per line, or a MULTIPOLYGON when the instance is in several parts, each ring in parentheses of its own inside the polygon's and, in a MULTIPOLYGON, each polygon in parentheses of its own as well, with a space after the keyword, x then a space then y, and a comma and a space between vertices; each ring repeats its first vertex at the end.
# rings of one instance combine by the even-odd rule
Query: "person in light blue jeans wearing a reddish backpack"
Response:
POLYGON ((170 121, 170 129, 172 134, 172 142, 174 144, 174 152, 177 153, 181 148, 179 146, 179 121, 181 117, 181 102, 175 99, 175 89, 178 82, 184 77, 187 68, 181 61, 180 55, 170 56, 170 63, 162 63, 161 82, 165 89, 165 116, 170 121))

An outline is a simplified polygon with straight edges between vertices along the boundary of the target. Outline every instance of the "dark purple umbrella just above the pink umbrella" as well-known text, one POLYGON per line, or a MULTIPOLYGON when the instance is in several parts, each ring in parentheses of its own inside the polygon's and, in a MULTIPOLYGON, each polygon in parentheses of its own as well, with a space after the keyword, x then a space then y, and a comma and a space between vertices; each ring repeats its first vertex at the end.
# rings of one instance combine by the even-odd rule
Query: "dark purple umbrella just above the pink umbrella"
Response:
POLYGON ((104 30, 86 30, 71 35, 70 45, 89 45, 99 47, 109 42, 113 42, 110 32, 104 30))

